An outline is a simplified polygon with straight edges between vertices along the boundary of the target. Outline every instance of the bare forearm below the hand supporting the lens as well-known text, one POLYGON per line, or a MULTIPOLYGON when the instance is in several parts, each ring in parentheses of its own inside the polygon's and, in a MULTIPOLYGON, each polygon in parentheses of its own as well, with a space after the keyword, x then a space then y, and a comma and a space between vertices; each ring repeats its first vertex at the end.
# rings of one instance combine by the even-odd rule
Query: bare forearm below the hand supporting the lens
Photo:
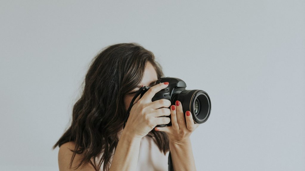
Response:
POLYGON ((174 171, 196 171, 191 140, 184 142, 170 141, 170 155, 174 171))

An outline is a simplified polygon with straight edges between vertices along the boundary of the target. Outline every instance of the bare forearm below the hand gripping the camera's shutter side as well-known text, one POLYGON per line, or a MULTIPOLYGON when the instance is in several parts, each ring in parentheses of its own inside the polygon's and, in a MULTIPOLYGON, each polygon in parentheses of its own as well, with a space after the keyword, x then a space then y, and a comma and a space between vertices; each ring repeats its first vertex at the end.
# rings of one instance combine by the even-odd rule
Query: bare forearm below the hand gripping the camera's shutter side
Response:
POLYGON ((114 152, 109 171, 136 170, 140 142, 140 138, 130 137, 127 132, 123 131, 114 152))

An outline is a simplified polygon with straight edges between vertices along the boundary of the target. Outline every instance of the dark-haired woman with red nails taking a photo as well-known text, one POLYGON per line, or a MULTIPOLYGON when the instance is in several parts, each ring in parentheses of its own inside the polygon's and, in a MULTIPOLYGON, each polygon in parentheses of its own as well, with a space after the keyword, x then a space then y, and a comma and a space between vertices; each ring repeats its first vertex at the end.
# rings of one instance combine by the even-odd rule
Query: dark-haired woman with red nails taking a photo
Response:
POLYGON ((71 126, 53 146, 59 146, 59 170, 168 170, 170 150, 174 170, 196 170, 190 134, 199 126, 181 102, 151 101, 168 82, 152 52, 136 43, 114 44, 92 60, 71 126), (135 100, 135 92, 151 88, 135 100), (169 106, 170 109, 168 108, 169 106), (171 115, 172 126, 168 124, 171 115), (185 118, 186 117, 186 121, 185 118))

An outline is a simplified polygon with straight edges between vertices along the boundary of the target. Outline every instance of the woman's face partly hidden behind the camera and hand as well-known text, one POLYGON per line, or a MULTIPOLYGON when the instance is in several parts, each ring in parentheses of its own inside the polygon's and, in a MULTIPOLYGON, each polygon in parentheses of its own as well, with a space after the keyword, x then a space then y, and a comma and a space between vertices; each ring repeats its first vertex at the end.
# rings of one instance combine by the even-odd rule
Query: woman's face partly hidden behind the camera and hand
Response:
MULTIPOLYGON (((152 87, 153 85, 155 85, 157 80, 158 80, 158 76, 157 76, 155 68, 152 66, 152 64, 150 62, 147 62, 146 66, 145 66, 145 71, 144 71, 142 82, 138 85, 137 88, 133 89, 131 92, 138 91, 142 87, 142 85, 152 87)), ((124 97, 124 104, 125 104, 126 110, 128 110, 131 100, 135 96, 135 93, 129 94, 131 92, 128 92, 127 95, 124 97)), ((134 104, 139 99, 140 99, 140 96, 138 96, 138 98, 135 99, 134 104)))

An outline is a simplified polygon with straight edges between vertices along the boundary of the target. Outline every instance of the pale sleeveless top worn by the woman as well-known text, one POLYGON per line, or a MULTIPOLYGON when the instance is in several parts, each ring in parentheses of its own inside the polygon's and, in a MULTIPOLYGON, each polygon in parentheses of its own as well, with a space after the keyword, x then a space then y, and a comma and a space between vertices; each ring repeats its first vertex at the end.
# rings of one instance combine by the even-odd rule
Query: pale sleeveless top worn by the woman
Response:
MULTIPOLYGON (((160 151, 153 139, 146 135, 141 139, 138 164, 136 171, 167 171, 168 170, 168 155, 169 151, 164 155, 160 151)), ((100 157, 102 154, 100 155, 100 157)), ((100 159, 100 158, 99 158, 100 159)), ((99 163, 99 159, 96 159, 96 163, 99 163)), ((101 166, 101 171, 103 169, 101 166)))

